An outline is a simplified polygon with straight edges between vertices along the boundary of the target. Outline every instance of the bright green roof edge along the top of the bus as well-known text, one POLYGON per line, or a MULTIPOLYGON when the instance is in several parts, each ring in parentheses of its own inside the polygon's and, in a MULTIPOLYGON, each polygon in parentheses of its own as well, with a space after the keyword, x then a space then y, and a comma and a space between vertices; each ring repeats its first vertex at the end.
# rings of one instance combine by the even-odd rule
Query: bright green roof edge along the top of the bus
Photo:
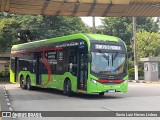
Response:
POLYGON ((72 35, 67 35, 67 36, 62 36, 62 37, 57 37, 57 38, 17 44, 17 45, 13 45, 12 49, 21 49, 23 47, 26 48, 26 47, 31 47, 31 46, 48 45, 48 44, 55 43, 55 42, 69 41, 69 40, 74 40, 74 39, 83 39, 88 44, 90 43, 90 40, 118 42, 118 38, 114 36, 79 33, 79 34, 72 34, 72 35))

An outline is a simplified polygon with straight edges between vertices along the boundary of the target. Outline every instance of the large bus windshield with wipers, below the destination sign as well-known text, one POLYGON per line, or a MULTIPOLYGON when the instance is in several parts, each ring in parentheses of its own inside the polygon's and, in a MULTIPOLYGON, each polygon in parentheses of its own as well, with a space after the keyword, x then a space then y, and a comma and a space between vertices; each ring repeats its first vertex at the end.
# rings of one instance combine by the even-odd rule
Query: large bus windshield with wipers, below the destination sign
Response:
POLYGON ((122 74, 126 64, 126 54, 119 52, 91 52, 91 71, 97 74, 122 74))

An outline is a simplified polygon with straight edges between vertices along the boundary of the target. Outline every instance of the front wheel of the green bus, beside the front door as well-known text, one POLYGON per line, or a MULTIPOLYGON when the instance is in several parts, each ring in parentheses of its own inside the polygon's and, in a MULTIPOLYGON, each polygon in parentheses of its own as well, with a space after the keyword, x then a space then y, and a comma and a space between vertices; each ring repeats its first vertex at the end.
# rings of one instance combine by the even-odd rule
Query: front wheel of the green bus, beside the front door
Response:
POLYGON ((70 80, 67 80, 67 81, 64 82, 63 94, 68 95, 69 97, 72 96, 72 90, 71 90, 71 82, 70 82, 70 80))

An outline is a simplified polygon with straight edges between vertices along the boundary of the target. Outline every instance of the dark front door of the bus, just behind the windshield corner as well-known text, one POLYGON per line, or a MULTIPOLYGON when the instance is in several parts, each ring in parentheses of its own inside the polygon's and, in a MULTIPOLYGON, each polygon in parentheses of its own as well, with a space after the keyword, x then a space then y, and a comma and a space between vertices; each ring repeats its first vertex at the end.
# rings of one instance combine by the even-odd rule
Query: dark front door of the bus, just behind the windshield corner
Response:
POLYGON ((78 89, 86 90, 87 84, 87 53, 79 54, 78 89))

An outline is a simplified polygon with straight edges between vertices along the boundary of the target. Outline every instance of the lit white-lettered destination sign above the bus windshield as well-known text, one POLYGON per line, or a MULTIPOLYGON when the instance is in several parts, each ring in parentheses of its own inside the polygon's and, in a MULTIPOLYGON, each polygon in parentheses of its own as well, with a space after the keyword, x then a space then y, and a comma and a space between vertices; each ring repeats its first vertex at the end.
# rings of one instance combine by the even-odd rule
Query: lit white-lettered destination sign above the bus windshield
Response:
POLYGON ((122 50, 121 46, 95 44, 95 49, 122 50))

